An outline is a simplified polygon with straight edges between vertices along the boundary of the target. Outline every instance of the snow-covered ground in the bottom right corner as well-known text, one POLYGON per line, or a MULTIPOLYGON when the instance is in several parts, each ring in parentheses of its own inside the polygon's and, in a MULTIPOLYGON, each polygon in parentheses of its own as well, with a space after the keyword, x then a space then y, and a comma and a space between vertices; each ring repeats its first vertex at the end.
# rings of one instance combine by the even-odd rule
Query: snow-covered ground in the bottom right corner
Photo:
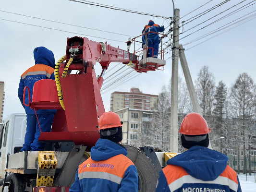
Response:
POLYGON ((242 192, 256 192, 254 173, 252 173, 251 176, 247 174, 247 181, 246 176, 243 174, 239 174, 238 178, 241 184, 242 192))

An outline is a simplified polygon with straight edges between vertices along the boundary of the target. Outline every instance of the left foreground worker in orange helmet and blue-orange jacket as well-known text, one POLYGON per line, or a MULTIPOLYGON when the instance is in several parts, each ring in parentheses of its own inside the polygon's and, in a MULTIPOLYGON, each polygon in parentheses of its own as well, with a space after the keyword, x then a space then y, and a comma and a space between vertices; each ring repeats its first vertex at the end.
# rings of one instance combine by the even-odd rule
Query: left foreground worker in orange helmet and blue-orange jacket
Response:
POLYGON ((105 112, 98 121, 100 139, 91 157, 82 163, 69 192, 138 192, 138 173, 126 157, 122 142, 122 121, 114 112, 105 112))

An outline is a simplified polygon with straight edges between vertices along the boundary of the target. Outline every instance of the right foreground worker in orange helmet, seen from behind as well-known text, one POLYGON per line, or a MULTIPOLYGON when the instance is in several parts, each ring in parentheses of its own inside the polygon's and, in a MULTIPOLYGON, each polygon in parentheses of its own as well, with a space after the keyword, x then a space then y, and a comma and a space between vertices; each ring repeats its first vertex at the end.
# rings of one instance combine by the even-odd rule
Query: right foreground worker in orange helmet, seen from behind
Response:
POLYGON ((200 114, 186 115, 179 130, 186 151, 167 161, 156 192, 242 192, 229 158, 207 148, 210 131, 200 114))

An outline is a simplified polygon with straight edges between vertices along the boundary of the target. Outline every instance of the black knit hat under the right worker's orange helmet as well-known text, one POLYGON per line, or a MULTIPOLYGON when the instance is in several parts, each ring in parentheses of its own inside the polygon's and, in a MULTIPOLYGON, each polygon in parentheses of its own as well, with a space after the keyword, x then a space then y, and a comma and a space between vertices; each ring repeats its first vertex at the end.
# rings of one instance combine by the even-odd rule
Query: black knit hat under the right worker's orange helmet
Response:
POLYGON ((204 135, 183 135, 181 136, 182 146, 186 149, 190 149, 193 146, 199 145, 202 147, 208 147, 209 136, 204 135), (191 138, 191 139, 190 139, 191 138))

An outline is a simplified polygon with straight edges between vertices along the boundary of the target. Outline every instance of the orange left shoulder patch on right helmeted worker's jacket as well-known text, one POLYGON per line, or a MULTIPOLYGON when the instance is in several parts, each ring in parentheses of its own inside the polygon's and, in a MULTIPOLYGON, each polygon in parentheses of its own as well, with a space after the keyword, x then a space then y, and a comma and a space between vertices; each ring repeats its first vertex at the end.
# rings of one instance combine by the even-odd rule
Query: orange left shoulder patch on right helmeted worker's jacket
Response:
POLYGON ((184 168, 174 165, 168 165, 163 168, 163 173, 166 177, 168 185, 170 185, 173 181, 178 180, 185 175, 188 175, 184 168))

